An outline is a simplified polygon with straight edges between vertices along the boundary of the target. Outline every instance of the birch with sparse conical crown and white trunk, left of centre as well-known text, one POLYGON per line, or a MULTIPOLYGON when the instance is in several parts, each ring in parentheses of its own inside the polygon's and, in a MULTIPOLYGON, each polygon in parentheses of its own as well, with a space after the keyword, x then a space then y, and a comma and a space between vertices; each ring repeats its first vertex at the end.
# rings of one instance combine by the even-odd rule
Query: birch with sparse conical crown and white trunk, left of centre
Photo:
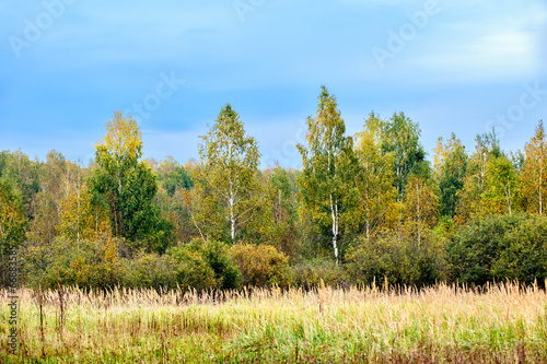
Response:
POLYGON ((255 178, 260 157, 258 146, 245 133, 240 116, 230 105, 222 108, 201 139, 201 164, 195 169, 198 219, 211 233, 223 230, 219 219, 228 221, 230 239, 235 243, 238 231, 253 219, 261 202, 260 186, 255 178))

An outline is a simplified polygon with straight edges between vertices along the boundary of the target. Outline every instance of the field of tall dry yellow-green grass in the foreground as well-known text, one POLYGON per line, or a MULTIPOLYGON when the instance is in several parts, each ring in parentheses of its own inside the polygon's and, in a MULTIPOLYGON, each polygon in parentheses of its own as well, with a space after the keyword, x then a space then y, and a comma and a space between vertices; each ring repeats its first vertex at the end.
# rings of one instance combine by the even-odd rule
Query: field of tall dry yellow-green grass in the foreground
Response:
POLYGON ((515 284, 22 290, 18 355, 0 294, 2 363, 547 363, 547 295, 515 284))

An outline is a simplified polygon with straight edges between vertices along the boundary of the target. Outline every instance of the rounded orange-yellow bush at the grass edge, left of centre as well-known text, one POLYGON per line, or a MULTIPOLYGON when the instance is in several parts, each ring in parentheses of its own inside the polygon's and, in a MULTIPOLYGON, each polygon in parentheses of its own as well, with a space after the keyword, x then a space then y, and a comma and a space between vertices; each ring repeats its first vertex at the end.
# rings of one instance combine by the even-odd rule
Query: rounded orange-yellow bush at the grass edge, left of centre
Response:
POLYGON ((230 256, 247 286, 289 285, 289 259, 270 245, 237 244, 230 256))

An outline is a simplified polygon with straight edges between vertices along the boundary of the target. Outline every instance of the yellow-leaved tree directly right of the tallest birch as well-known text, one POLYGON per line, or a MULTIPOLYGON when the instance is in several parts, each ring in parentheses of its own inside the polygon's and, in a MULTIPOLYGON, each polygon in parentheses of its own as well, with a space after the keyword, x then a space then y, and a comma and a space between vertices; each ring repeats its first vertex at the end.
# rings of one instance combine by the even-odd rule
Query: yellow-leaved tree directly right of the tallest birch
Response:
POLYGON ((394 158, 393 153, 381 152, 380 122, 377 116, 371 113, 364 130, 357 136, 354 149, 358 162, 354 174, 358 197, 354 221, 363 222, 366 239, 370 239, 376 227, 394 220, 394 158))

